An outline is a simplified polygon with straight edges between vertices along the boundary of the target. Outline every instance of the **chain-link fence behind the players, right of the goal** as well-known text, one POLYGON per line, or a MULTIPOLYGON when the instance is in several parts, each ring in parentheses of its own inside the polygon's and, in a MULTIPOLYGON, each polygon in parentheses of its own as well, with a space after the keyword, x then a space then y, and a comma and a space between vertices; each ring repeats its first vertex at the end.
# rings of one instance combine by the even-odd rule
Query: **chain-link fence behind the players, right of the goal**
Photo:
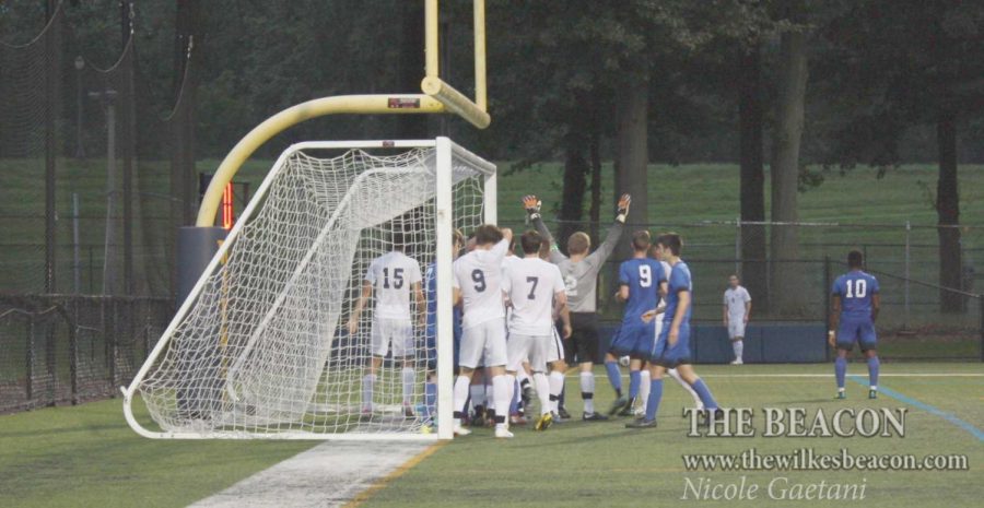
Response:
MULTIPOLYGON (((517 231, 523 223, 504 224, 517 231)), ((558 231, 559 224, 550 224, 558 231)), ((598 225, 604 237, 607 224, 598 225)), ((591 231, 579 223, 577 229, 591 231)), ((693 275, 693 319, 719 323, 728 277, 737 274, 752 296, 752 323, 825 323, 833 280, 847 271, 847 252, 859 250, 865 269, 881 286, 877 328, 886 356, 984 361, 984 226, 840 223, 701 222, 637 224, 626 231, 676 232, 693 275), (941 262, 940 229, 960 238, 960 265, 941 262), (782 235, 784 250, 774 248, 782 235), (792 241, 788 241, 792 238, 792 241), (960 285, 940 284, 941 271, 956 270, 960 285), (954 305, 956 304, 956 305, 954 305)), ((628 256, 629 235, 622 239, 628 256)), ((593 238, 595 245, 601 238, 593 238)), ((564 239, 559 241, 564 250, 564 239)), ((616 291, 619 251, 599 287, 598 308, 608 321, 621 319, 616 291)))

